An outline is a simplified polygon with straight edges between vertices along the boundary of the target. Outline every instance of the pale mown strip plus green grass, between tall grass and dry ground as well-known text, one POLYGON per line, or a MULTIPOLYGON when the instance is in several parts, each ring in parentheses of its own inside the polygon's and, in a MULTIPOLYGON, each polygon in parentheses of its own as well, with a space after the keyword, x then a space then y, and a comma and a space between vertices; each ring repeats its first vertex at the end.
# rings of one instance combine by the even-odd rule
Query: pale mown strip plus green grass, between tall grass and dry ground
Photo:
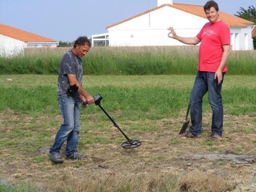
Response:
MULTIPOLYGON (((57 76, 23 75, 21 80, 21 76, 13 75, 11 82, 5 81, 6 77, 0 76, 0 111, 12 109, 33 113, 34 116, 41 113, 58 113, 55 85, 57 76)), ((102 105, 107 111, 120 110, 122 113, 118 114, 118 118, 122 116, 134 120, 160 119, 170 115, 177 116, 178 112, 186 107, 194 78, 192 75, 182 77, 175 75, 85 76, 83 85, 92 95, 97 93, 103 95, 102 105), (178 78, 177 84, 176 78, 178 78), (168 79, 169 82, 166 83, 168 79), (142 86, 139 86, 140 84, 142 86)), ((243 77, 248 82, 248 84, 243 82, 243 87, 239 83, 236 84, 237 79, 241 78, 240 76, 226 76, 225 78, 222 99, 226 114, 248 115, 256 112, 256 98, 254 97, 256 87, 251 86, 251 82, 255 82, 255 77, 243 77)), ((207 95, 204 97, 203 110, 211 110, 207 95)), ((100 109, 93 105, 82 110, 82 114, 94 114, 99 111, 100 109)), ((104 114, 98 118, 106 119, 104 114)), ((155 128, 144 127, 142 129, 154 130, 155 128)), ((248 131, 250 130, 245 130, 245 132, 248 131)))

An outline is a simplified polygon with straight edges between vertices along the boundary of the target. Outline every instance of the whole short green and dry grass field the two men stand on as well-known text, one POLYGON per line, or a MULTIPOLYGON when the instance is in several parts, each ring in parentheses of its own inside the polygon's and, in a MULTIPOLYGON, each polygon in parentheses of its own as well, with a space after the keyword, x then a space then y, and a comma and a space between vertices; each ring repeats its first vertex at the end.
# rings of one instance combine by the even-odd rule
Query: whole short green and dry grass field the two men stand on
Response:
POLYGON ((251 186, 256 172, 253 162, 237 164, 186 155, 255 156, 256 77, 225 76, 225 128, 217 142, 206 140, 211 126, 207 95, 202 138, 178 136, 194 78, 84 76, 83 86, 92 95, 101 93, 102 106, 131 139, 141 140, 142 145, 132 150, 121 148, 123 136, 92 105, 81 109, 78 144, 79 152, 88 159, 57 165, 47 156, 62 120, 56 101, 57 76, 1 75, 0 190, 225 191, 251 186))

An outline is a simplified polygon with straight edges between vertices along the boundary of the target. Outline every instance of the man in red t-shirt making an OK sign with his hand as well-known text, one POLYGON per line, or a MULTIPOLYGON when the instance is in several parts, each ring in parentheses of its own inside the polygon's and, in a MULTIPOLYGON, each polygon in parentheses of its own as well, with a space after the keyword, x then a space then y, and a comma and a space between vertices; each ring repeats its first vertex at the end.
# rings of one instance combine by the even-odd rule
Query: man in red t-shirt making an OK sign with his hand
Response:
POLYGON ((218 5, 208 1, 204 6, 207 19, 206 23, 196 37, 186 38, 177 36, 173 27, 169 27, 169 38, 176 39, 188 45, 197 45, 199 48, 198 72, 193 90, 190 94, 191 123, 187 138, 198 138, 202 127, 202 103, 208 91, 209 103, 212 108, 212 125, 209 141, 222 137, 223 107, 221 98, 221 85, 224 74, 227 72, 226 63, 230 54, 230 29, 219 18, 218 5))

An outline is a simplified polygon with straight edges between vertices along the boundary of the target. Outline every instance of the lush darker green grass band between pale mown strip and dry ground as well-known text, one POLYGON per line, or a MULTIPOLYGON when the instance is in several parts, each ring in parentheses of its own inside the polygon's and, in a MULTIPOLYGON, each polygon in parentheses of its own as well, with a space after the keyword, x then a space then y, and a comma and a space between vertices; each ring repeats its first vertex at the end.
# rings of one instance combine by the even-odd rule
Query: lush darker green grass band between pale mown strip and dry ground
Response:
MULTIPOLYGON (((56 88, 53 86, 37 86, 24 89, 21 87, 1 88, 0 111, 12 109, 25 113, 55 113, 58 111, 56 88), (10 97, 11 95, 11 97, 10 97)), ((190 90, 177 88, 145 87, 118 88, 113 86, 88 87, 87 90, 95 95, 103 95, 102 105, 108 111, 121 110, 125 116, 132 119, 159 119, 169 115, 177 115, 185 108, 190 90)), ((223 104, 226 114, 250 114, 256 111, 256 88, 230 88, 222 91, 223 104), (236 97, 234 97, 236 95, 236 97)), ((204 98, 204 110, 210 110, 207 97, 204 98)), ((86 113, 95 113, 99 108, 92 106, 86 113)), ((104 118, 104 116, 102 116, 104 118)))

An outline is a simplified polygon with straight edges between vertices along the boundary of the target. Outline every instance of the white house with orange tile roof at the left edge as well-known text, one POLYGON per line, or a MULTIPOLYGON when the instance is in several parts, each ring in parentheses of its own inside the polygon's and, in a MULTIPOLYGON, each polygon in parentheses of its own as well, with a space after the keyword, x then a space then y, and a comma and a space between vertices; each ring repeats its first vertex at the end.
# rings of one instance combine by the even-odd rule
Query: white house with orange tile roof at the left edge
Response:
POLYGON ((24 48, 57 47, 58 42, 0 23, 0 56, 15 55, 24 48))

